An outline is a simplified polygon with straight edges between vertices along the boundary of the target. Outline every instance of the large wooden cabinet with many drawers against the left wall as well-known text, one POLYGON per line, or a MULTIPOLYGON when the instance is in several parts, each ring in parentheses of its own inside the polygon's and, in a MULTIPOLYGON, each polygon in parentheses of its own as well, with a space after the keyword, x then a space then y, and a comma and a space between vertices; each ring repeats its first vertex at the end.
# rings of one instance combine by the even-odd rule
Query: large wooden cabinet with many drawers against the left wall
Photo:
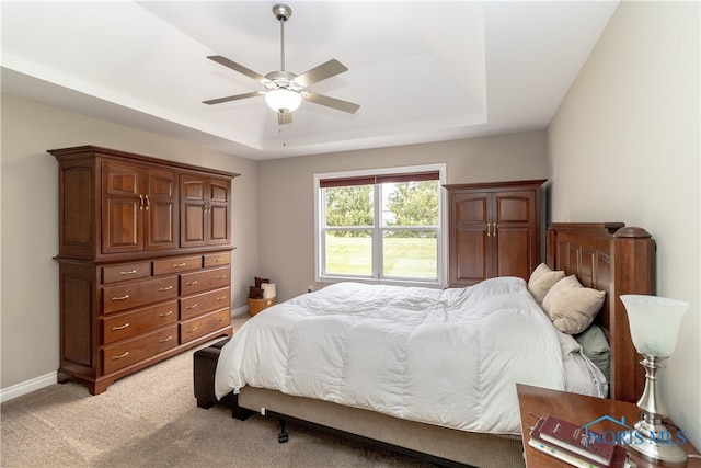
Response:
POLYGON ((92 395, 231 329, 231 180, 106 148, 59 162, 60 368, 92 395))

